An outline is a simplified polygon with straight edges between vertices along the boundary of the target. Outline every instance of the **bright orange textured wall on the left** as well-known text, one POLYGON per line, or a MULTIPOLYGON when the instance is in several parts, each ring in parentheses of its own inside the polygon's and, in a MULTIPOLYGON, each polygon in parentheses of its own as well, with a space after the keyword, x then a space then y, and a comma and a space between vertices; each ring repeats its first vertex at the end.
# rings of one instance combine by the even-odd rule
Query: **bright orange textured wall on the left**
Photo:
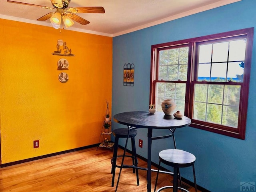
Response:
POLYGON ((112 100, 111 37, 0 19, 0 58, 2 164, 99 142, 112 100), (76 56, 52 55, 58 39, 76 56), (60 58, 69 62, 66 83, 60 58))

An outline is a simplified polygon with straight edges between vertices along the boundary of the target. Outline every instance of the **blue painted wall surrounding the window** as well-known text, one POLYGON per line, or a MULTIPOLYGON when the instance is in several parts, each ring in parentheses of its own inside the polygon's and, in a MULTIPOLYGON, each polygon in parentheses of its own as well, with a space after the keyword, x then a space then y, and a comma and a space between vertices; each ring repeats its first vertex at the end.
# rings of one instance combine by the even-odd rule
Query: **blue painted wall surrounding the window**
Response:
MULTIPOLYGON (((242 0, 114 37, 112 114, 148 110, 151 45, 250 28, 255 25, 256 0, 242 0), (123 86, 125 63, 135 65, 133 87, 123 86)), ((198 185, 212 192, 239 192, 240 182, 256 182, 255 39, 254 34, 246 139, 240 140, 192 127, 177 129, 175 132, 177 148, 187 150, 197 158, 195 166, 198 185)), ((113 127, 123 126, 113 123, 113 127)), ((145 158, 147 157, 146 133, 146 129, 138 129, 136 136, 137 146, 139 139, 144 140, 143 148, 136 149, 137 153, 145 158)), ((158 152, 172 147, 170 139, 153 141, 152 161, 158 163, 158 152)), ((193 181, 191 168, 183 169, 181 174, 182 177, 193 181)))

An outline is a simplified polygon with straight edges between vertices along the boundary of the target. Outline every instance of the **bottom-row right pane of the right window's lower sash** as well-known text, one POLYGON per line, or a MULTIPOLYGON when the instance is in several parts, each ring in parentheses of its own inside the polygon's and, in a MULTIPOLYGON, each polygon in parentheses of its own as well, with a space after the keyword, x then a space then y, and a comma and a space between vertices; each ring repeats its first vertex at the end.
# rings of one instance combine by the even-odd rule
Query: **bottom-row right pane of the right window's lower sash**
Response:
POLYGON ((238 111, 237 106, 224 106, 223 107, 223 120, 222 124, 230 127, 237 128, 238 126, 238 111))

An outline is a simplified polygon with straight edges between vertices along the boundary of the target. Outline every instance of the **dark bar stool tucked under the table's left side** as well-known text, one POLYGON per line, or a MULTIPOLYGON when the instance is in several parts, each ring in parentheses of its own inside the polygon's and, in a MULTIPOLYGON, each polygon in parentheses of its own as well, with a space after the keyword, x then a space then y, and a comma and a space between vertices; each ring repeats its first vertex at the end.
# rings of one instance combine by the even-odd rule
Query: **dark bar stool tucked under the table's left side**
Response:
MULTIPOLYGON (((112 187, 114 186, 114 180, 115 180, 115 172, 116 172, 116 167, 121 168, 121 166, 116 165, 116 159, 119 157, 128 157, 128 158, 132 158, 132 165, 131 166, 138 166, 138 160, 137 160, 137 155, 136 155, 136 147, 135 147, 135 136, 137 135, 137 130, 133 129, 129 131, 129 136, 128 136, 128 128, 118 128, 113 130, 114 136, 115 136, 115 144, 114 144, 114 152, 113 152, 113 158, 111 159, 111 164, 112 164, 112 169, 111 169, 111 173, 112 175, 112 187), (117 150, 118 150, 118 140, 119 138, 131 138, 132 141, 132 155, 119 155, 117 156, 117 150)), ((124 167, 122 166, 122 168, 128 168, 128 167, 124 167)), ((135 173, 136 170, 136 176, 137 176, 137 185, 139 185, 139 175, 138 175, 138 168, 133 168, 133 173, 135 173)), ((118 178, 118 182, 119 182, 119 178, 118 178)), ((118 182, 116 184, 116 190, 118 187, 118 182)))

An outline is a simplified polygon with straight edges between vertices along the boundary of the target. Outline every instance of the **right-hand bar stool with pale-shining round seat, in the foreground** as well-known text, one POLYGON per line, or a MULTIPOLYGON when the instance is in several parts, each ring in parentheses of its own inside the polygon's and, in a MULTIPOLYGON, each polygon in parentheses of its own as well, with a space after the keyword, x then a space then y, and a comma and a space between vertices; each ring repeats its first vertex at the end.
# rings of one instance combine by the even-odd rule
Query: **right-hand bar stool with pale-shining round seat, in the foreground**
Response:
POLYGON ((195 174, 195 167, 194 167, 194 162, 196 161, 196 157, 193 154, 183 150, 179 150, 179 149, 167 149, 167 150, 160 151, 158 156, 159 156, 159 165, 158 165, 158 172, 156 175, 156 184, 155 184, 154 192, 156 191, 156 185, 157 185, 161 162, 168 166, 173 167, 173 186, 161 187, 157 190, 157 192, 160 192, 166 188, 173 188, 174 192, 177 192, 178 189, 189 192, 188 190, 182 187, 178 187, 178 170, 179 168, 190 167, 190 166, 193 166, 195 191, 197 192, 196 174, 195 174))

